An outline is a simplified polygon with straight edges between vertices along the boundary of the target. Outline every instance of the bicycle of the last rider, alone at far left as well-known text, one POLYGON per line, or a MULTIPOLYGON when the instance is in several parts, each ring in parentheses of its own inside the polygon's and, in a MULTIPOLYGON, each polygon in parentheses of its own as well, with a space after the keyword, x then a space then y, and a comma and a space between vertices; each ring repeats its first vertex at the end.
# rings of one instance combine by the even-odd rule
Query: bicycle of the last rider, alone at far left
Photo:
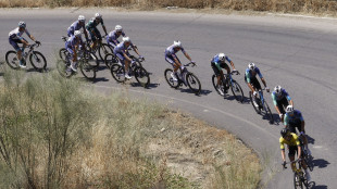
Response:
MULTIPOLYGON (((46 71, 46 66, 47 66, 46 58, 41 52, 34 50, 35 48, 38 48, 39 46, 40 43, 34 43, 34 45, 28 46, 27 47, 29 48, 28 52, 24 52, 22 54, 22 58, 24 59, 25 62, 29 58, 29 62, 33 65, 33 67, 38 72, 42 72, 42 71, 46 71)), ((5 53, 5 62, 13 70, 20 68, 20 60, 17 59, 16 51, 13 51, 13 50, 8 51, 5 53)))

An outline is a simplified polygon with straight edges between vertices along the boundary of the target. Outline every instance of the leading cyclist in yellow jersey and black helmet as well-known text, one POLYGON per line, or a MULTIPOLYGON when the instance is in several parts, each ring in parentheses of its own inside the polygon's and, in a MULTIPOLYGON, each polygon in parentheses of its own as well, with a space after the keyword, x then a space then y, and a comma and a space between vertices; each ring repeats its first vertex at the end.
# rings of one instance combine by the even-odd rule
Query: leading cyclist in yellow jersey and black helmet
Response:
MULTIPOLYGON (((283 166, 286 166, 286 153, 285 153, 285 144, 288 146, 288 158, 290 162, 295 161, 295 153, 297 153, 297 158, 301 159, 302 158, 302 149, 301 149, 301 143, 298 138, 298 136, 294 133, 290 133, 288 128, 283 128, 280 130, 280 138, 279 138, 279 144, 280 144, 280 153, 282 153, 282 160, 283 160, 283 166)), ((307 164, 304 161, 300 160, 301 164, 304 168, 304 173, 307 176, 307 180, 310 181, 311 177, 307 168, 307 164)), ((291 169, 292 172, 296 171, 296 163, 291 163, 291 169)))

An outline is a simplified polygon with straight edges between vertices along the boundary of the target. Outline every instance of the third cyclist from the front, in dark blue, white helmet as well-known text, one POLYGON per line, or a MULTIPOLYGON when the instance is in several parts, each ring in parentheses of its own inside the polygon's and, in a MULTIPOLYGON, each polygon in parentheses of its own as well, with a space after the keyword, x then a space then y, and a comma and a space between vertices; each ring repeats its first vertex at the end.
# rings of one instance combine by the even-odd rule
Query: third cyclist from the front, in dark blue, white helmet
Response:
POLYGON ((276 109, 276 112, 279 115, 280 122, 284 121, 284 114, 286 113, 285 108, 287 108, 290 103, 290 105, 294 105, 294 102, 291 98, 289 97, 288 92, 283 89, 280 86, 276 86, 274 88, 274 91, 272 92, 272 99, 274 106, 276 109))

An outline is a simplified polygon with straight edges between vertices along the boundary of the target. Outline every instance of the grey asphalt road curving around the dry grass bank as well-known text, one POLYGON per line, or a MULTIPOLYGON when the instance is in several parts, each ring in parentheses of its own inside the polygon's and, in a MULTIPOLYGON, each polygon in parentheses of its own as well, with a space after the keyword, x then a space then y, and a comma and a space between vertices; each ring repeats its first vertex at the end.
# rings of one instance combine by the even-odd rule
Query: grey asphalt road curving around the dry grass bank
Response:
MULTIPOLYGON (((55 52, 64 43, 60 39, 79 14, 87 20, 98 10, 1 10, 0 60, 12 47, 8 34, 20 20, 27 23, 29 32, 42 42, 39 50, 48 59, 48 67, 54 68, 55 52)), ((307 123, 310 148, 315 158, 312 180, 315 188, 334 188, 337 184, 337 27, 335 20, 283 17, 275 15, 216 15, 201 13, 117 12, 99 10, 108 30, 116 24, 140 50, 147 62, 143 66, 151 74, 149 89, 123 87, 116 84, 108 70, 98 73, 93 83, 101 92, 126 89, 132 97, 147 97, 178 108, 198 118, 237 135, 253 148, 266 166, 264 180, 267 188, 292 188, 290 169, 282 171, 279 130, 282 125, 270 125, 258 115, 247 101, 240 104, 232 97, 223 99, 213 89, 211 58, 226 53, 240 71, 235 76, 248 97, 244 72, 249 62, 255 62, 267 86, 280 85, 290 93, 295 108, 300 110, 307 123), (183 47, 198 64, 189 68, 202 84, 200 96, 183 87, 168 87, 163 72, 170 65, 164 61, 164 49, 173 40, 182 40, 183 47)), ((101 29, 101 27, 99 26, 101 29)), ((180 60, 187 62, 179 53, 180 60)), ((34 73, 34 72, 33 72, 34 73)), ((80 77, 80 74, 78 74, 80 77)), ((267 102, 274 110, 270 94, 267 102)), ((277 116, 275 114, 275 116, 277 116)))

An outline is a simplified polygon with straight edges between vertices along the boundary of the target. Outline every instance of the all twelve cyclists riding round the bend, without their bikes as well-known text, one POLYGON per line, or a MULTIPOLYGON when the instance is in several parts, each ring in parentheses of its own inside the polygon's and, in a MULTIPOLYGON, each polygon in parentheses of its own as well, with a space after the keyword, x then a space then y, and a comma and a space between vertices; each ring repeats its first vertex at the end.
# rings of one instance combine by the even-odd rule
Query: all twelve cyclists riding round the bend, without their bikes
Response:
MULTIPOLYGON (((138 49, 136 46, 133 45, 129 37, 126 37, 125 33, 123 32, 123 28, 121 25, 116 25, 114 30, 107 34, 107 28, 103 24, 102 15, 99 13, 95 14, 95 17, 92 17, 87 24, 86 18, 84 15, 78 16, 78 21, 74 22, 68 28, 67 28, 67 36, 68 39, 65 42, 65 48, 72 55, 72 64, 71 68, 76 72, 77 67, 77 51, 80 48, 85 48, 85 43, 82 40, 82 34, 85 34, 85 38, 87 41, 87 46, 89 46, 89 41, 92 41, 90 45, 90 48, 96 48, 98 42, 101 42, 102 36, 100 35, 100 32, 97 29, 97 26, 101 24, 102 28, 107 36, 107 43, 113 47, 113 53, 123 65, 125 65, 125 78, 129 79, 132 78, 128 75, 128 70, 130 63, 133 63, 133 60, 129 58, 128 49, 133 48, 134 51, 139 55, 139 58, 142 58, 139 54, 138 49), (83 32, 80 32, 80 29, 83 32), (89 35, 88 35, 89 34, 89 35), (90 39, 89 39, 90 36, 90 39), (118 38, 123 36, 123 41, 120 42, 118 38)), ((24 22, 18 23, 18 27, 14 30, 10 32, 9 34, 9 42, 13 46, 13 48, 17 52, 17 59, 20 60, 20 66, 25 67, 24 59, 22 58, 24 53, 24 49, 29 46, 28 41, 22 37, 22 35, 26 33, 27 36, 35 41, 36 43, 40 43, 37 41, 33 35, 30 35, 26 28, 26 24, 24 22), (20 48, 17 43, 23 43, 23 47, 20 48)), ((178 56, 176 53, 178 51, 182 51, 186 59, 188 59, 190 62, 195 63, 189 54, 185 51, 185 49, 182 46, 180 41, 174 41, 173 45, 167 47, 164 52, 165 61, 168 62, 173 68, 174 72, 171 74, 171 77, 173 80, 177 80, 177 77, 179 76, 177 71, 180 68, 182 71, 185 70, 184 65, 180 63, 178 56)), ((214 55, 211 60, 211 67, 214 71, 214 74, 216 75, 217 83, 216 88, 220 88, 223 83, 224 73, 222 68, 226 70, 226 73, 230 73, 230 68, 228 64, 230 63, 230 66, 233 67, 233 73, 239 73, 236 71, 235 65, 233 61, 225 54, 225 53, 219 53, 214 55)), ((182 74, 183 72, 180 72, 182 74)), ((265 90, 269 92, 270 89, 266 86, 266 81, 264 77, 262 76, 260 70, 258 66, 255 66, 254 63, 249 63, 248 67, 245 72, 245 81, 247 83, 249 89, 251 90, 253 94, 253 104, 254 106, 258 106, 259 104, 255 102, 255 98, 259 90, 262 90, 261 85, 257 78, 257 75, 262 80, 265 90)), ((227 78, 226 78, 227 79, 227 78)), ((225 92, 227 92, 228 88, 225 89, 225 92)), ((222 90, 219 90, 222 92, 222 90)), ((224 93, 221 93, 224 94, 224 93)), ((294 109, 294 102, 291 98, 289 97, 288 92, 282 88, 280 86, 276 86, 274 88, 274 91, 272 92, 272 99, 275 106, 276 112, 279 114, 280 121, 284 123, 285 128, 280 130, 282 137, 279 138, 280 143, 280 150, 282 150, 282 159, 284 161, 283 165, 286 164, 286 158, 285 158, 285 144, 288 146, 289 153, 288 156, 291 162, 295 160, 295 154, 297 153, 298 159, 301 159, 302 156, 302 150, 307 150, 309 154, 311 154, 309 148, 308 148, 308 139, 305 136, 305 123, 302 117, 302 114, 300 111, 294 109), (300 135, 298 136, 296 133, 296 128, 299 130, 300 135), (301 139, 301 140, 300 140, 301 139), (302 146, 302 143, 303 146, 302 146), (302 149, 302 147, 304 149, 302 149)), ((310 180, 310 174, 307 169, 307 165, 304 162, 302 162, 303 168, 307 175, 307 179, 310 180)), ((296 169, 295 163, 291 164, 292 171, 296 169)))

